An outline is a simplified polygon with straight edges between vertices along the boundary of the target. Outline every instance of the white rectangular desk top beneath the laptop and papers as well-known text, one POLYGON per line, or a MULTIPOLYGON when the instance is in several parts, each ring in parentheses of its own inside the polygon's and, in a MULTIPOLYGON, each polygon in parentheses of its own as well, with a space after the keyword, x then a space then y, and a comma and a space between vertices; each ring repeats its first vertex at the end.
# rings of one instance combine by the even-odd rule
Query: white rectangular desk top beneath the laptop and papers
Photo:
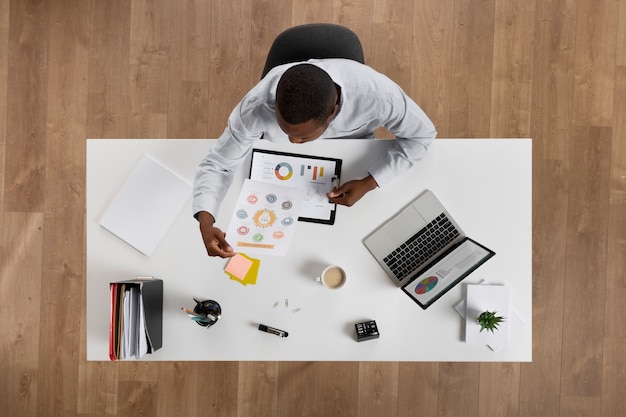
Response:
MULTIPOLYGON (((299 222, 285 257, 263 256, 256 285, 242 286, 223 272, 226 261, 209 258, 191 198, 150 257, 98 220, 136 162, 149 154, 184 178, 212 140, 88 140, 87 142, 87 359, 108 360, 109 282, 151 275, 164 281, 163 348, 145 360, 302 361, 531 361, 531 141, 438 139, 424 160, 354 207, 339 207, 335 225, 299 222), (422 310, 396 287, 361 240, 424 189, 440 198, 465 232, 496 256, 422 310), (338 264, 346 285, 327 290, 313 277, 338 264), (497 352, 463 340, 463 320, 453 306, 465 284, 486 279, 506 284, 526 327, 497 352), (180 311, 192 296, 222 306, 210 329, 180 311), (285 298, 289 307, 284 307, 285 298), (274 303, 279 306, 274 308, 274 303), (292 310, 300 308, 297 313, 292 310), (380 338, 356 342, 354 323, 374 319, 380 338), (280 338, 257 330, 264 323, 289 332, 280 338)), ((282 148, 343 158, 343 180, 361 178, 389 141, 315 141, 282 148)), ((227 229, 247 167, 222 204, 217 226, 227 229)))

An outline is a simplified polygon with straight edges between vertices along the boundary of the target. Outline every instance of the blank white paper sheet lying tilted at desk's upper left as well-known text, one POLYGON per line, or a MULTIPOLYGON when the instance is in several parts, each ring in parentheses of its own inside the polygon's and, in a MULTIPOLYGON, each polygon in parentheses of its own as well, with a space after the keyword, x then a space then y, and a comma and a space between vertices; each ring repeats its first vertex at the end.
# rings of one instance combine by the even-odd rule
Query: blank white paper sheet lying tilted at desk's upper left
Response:
POLYGON ((144 155, 100 219, 100 225, 150 256, 190 195, 189 182, 144 155))

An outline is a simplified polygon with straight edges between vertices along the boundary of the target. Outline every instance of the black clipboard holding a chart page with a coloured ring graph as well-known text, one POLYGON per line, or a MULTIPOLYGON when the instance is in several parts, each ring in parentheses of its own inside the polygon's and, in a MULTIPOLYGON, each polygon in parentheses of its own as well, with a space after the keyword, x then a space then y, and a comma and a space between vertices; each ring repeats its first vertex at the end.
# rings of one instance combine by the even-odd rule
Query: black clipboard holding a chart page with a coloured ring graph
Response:
POLYGON ((309 187, 311 193, 307 195, 310 198, 304 202, 304 214, 298 220, 333 225, 337 204, 330 203, 325 195, 332 191, 333 185, 340 183, 341 164, 339 158, 254 148, 248 178, 285 186, 309 187))

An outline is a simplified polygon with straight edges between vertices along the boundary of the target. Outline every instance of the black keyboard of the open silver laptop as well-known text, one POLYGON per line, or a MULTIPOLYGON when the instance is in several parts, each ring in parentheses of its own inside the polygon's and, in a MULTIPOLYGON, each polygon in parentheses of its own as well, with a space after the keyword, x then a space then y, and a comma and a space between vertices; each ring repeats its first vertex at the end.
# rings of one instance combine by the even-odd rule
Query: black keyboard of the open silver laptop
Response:
POLYGON ((387 255, 383 261, 400 281, 426 263, 457 236, 459 236, 459 231, 450 219, 441 213, 435 220, 387 255))

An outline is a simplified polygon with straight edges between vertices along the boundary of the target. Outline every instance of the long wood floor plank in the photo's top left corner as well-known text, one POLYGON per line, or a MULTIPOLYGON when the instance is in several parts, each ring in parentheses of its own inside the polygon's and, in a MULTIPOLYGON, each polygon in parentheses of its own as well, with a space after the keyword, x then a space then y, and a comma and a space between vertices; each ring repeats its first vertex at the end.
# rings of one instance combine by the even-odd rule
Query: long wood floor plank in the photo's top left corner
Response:
POLYGON ((7 211, 43 211, 49 15, 46 1, 12 2, 9 8, 7 211))

